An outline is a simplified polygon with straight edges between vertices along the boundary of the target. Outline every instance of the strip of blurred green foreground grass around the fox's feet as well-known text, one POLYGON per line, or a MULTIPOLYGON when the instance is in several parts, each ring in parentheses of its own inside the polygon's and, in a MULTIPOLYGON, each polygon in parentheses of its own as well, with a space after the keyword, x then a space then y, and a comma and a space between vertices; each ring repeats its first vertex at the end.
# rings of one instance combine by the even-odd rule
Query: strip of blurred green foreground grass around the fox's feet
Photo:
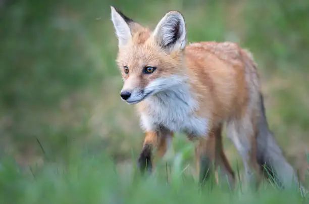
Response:
MULTIPOLYGON (((188 149, 187 149, 188 150, 188 149)), ((198 188, 196 178, 184 169, 185 162, 170 161, 170 174, 159 163, 151 175, 141 176, 135 167, 117 168, 99 152, 76 155, 65 165, 48 163, 25 172, 12 160, 0 170, 2 203, 301 203, 296 189, 278 190, 263 183, 258 192, 237 185, 234 191, 206 183, 198 188), (86 155, 85 155, 86 154, 86 155), (183 171, 184 170, 184 171, 183 171), (170 176, 170 177, 168 177, 170 176)), ((177 152, 185 157, 186 149, 177 152)))

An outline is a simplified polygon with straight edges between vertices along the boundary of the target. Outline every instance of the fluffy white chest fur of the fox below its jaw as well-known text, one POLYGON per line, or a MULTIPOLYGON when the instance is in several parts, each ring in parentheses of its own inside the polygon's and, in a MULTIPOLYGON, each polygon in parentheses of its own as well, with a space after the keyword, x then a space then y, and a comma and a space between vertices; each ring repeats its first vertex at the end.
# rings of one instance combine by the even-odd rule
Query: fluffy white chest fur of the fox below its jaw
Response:
POLYGON ((173 132, 196 136, 207 133, 207 119, 194 114, 198 103, 189 94, 187 87, 176 86, 150 96, 145 102, 147 108, 140 115, 144 130, 154 131, 159 126, 164 126, 173 132))

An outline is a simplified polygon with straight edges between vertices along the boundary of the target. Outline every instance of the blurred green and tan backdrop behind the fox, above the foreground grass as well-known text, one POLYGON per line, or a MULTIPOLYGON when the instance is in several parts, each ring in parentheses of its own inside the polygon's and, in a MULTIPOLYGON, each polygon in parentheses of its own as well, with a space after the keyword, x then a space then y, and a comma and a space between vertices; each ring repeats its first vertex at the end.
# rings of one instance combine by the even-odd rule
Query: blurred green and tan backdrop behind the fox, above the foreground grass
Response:
MULTIPOLYGON (((0 0, 1 158, 13 156, 31 170, 36 164, 71 164, 80 154, 107 155, 117 168, 133 169, 143 133, 133 106, 119 96, 111 5, 151 28, 169 10, 179 10, 189 42, 233 41, 248 48, 259 64, 270 128, 304 178, 309 146, 306 0, 0 0)), ((189 145, 183 135, 174 143, 175 152, 189 145)), ((237 151, 227 139, 225 148, 235 169, 237 151)), ((194 164, 191 153, 188 164, 194 164)))

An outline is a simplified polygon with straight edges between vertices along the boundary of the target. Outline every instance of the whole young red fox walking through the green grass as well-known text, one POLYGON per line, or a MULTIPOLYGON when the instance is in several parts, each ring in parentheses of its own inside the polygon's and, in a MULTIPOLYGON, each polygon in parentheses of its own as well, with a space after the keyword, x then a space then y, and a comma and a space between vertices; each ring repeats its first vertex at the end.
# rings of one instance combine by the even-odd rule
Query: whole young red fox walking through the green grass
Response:
POLYGON ((223 148, 225 126, 247 182, 258 187, 263 178, 273 177, 281 187, 296 183, 303 189, 269 129, 258 66, 248 49, 229 41, 188 43, 179 11, 166 13, 155 29, 114 6, 111 20, 123 80, 120 97, 135 106, 145 133, 137 159, 142 173, 151 173, 153 156, 163 158, 173 148, 174 134, 183 133, 196 143, 199 183, 220 168, 235 186, 223 148))

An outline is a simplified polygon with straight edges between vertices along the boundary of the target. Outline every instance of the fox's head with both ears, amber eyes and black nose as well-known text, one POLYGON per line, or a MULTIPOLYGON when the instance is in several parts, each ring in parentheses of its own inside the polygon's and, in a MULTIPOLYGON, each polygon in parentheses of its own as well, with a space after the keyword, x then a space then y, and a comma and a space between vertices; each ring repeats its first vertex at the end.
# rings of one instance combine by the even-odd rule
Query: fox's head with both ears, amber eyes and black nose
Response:
POLYGON ((111 7, 118 38, 117 64, 124 84, 121 98, 128 104, 140 101, 185 80, 183 52, 186 28, 183 16, 168 12, 151 31, 111 7))

